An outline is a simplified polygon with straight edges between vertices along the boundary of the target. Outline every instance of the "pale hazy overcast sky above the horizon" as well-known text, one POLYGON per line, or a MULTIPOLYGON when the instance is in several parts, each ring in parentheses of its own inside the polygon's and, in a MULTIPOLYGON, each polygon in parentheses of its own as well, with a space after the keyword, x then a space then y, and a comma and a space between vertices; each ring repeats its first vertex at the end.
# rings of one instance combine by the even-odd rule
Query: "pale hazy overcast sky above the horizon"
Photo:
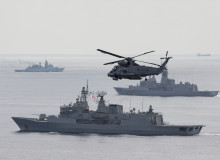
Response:
POLYGON ((0 0, 0 54, 220 54, 219 0, 0 0))

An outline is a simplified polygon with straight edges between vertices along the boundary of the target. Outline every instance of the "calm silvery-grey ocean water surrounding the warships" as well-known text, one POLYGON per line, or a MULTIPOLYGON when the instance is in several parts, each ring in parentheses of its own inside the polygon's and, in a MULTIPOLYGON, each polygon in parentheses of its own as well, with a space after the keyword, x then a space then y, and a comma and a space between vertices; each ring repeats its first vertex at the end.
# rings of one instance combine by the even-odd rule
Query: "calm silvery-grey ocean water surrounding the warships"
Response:
MULTIPOLYGON (((113 81, 107 72, 112 59, 91 55, 1 55, 0 58, 0 159, 2 160, 218 160, 220 159, 220 95, 217 97, 118 96, 114 86, 139 81, 113 81), (48 59, 63 73, 15 73, 48 59), (58 114, 59 106, 73 101, 89 81, 91 91, 107 92, 107 103, 163 113, 170 124, 202 124, 197 136, 135 136, 59 133, 21 133, 11 116, 58 114), (143 107, 142 107, 143 102, 143 107)), ((115 59, 114 59, 115 60, 115 59)), ((142 59, 143 60, 143 59, 142 59)), ((158 57, 147 61, 159 62, 158 57)), ((220 90, 220 57, 175 56, 168 65, 176 82, 196 83, 200 90, 220 90)), ((160 76, 157 77, 158 81, 160 76)), ((91 109, 96 103, 89 99, 91 109)))

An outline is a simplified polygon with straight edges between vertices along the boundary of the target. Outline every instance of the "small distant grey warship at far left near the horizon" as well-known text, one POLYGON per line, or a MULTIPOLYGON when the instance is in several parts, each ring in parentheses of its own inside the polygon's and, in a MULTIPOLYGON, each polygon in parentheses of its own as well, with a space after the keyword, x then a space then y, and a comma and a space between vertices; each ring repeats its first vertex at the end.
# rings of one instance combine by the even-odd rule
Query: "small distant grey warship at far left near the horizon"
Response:
POLYGON ((41 63, 38 65, 28 66, 26 69, 15 69, 15 72, 63 72, 64 68, 54 67, 52 64, 49 64, 47 60, 45 61, 45 66, 42 66, 41 63))

